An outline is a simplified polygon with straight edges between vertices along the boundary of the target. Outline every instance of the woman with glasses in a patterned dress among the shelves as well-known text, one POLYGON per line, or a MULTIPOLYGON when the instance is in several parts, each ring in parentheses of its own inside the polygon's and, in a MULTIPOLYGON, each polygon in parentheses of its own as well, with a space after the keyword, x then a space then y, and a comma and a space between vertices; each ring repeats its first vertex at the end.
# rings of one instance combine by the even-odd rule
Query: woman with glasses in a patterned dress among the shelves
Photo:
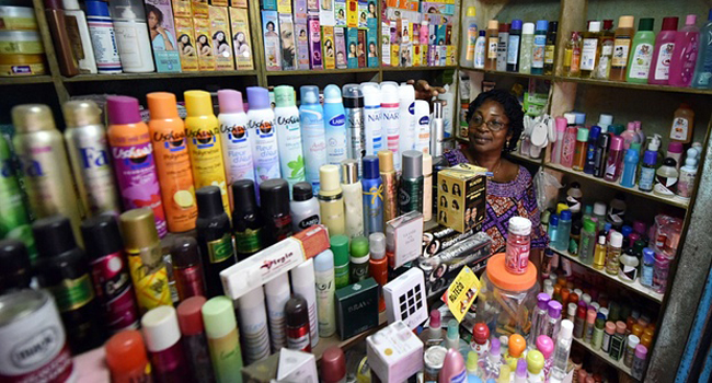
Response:
POLYGON ((505 251, 509 218, 519 216, 531 221, 531 252, 538 259, 548 239, 541 228, 531 175, 502 156, 516 148, 524 130, 521 105, 514 95, 495 89, 480 93, 470 104, 467 120, 469 147, 446 152, 444 156, 450 166, 471 163, 492 172, 487 177, 482 225, 492 237, 492 252, 505 251))

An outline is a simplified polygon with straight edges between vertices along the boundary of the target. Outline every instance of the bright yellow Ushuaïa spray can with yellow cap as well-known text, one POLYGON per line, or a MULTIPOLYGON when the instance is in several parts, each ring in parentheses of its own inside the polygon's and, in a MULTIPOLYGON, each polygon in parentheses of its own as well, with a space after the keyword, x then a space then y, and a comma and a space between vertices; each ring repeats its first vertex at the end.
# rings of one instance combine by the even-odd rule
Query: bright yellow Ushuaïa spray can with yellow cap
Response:
POLYGON ((196 189, 209 185, 219 187, 222 207, 229 213, 230 199, 222 162, 221 137, 218 119, 213 114, 210 93, 187 91, 183 96, 187 112, 185 129, 188 135, 193 183, 196 189))

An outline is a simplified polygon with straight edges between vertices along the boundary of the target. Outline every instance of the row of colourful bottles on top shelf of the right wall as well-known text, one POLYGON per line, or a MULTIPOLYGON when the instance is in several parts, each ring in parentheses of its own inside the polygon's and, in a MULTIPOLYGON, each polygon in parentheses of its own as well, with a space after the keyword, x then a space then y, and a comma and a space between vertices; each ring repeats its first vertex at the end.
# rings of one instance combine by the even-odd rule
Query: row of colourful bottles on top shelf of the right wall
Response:
POLYGON ((652 18, 624 15, 588 21, 587 32, 572 32, 566 42, 563 74, 630 83, 712 89, 712 10, 702 31, 688 14, 678 31, 678 18, 664 18, 655 36, 652 18))

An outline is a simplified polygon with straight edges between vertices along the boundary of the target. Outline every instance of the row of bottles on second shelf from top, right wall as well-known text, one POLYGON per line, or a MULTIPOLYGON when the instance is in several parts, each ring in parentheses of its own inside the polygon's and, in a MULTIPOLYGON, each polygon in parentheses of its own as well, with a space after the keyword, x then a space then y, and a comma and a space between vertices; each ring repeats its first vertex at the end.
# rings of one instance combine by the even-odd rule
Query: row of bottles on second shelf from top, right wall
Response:
POLYGON ((675 112, 670 142, 663 154, 659 135, 646 138, 640 121, 628 123, 623 130, 623 125, 612 124, 611 115, 601 114, 596 125, 586 127, 584 113, 565 113, 555 118, 550 163, 624 187, 638 185, 661 197, 689 199, 702 154, 702 144, 692 143, 681 166, 684 144, 692 139, 693 116, 686 104, 675 112))

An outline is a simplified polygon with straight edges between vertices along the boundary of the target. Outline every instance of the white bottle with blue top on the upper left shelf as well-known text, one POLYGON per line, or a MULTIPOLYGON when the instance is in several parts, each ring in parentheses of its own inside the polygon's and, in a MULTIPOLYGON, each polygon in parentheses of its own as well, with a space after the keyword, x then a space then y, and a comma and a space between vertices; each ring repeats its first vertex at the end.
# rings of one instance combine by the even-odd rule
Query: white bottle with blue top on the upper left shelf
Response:
POLYGON ((120 73, 122 61, 118 58, 114 22, 108 15, 108 3, 88 0, 84 4, 87 5, 87 25, 99 73, 120 73))

